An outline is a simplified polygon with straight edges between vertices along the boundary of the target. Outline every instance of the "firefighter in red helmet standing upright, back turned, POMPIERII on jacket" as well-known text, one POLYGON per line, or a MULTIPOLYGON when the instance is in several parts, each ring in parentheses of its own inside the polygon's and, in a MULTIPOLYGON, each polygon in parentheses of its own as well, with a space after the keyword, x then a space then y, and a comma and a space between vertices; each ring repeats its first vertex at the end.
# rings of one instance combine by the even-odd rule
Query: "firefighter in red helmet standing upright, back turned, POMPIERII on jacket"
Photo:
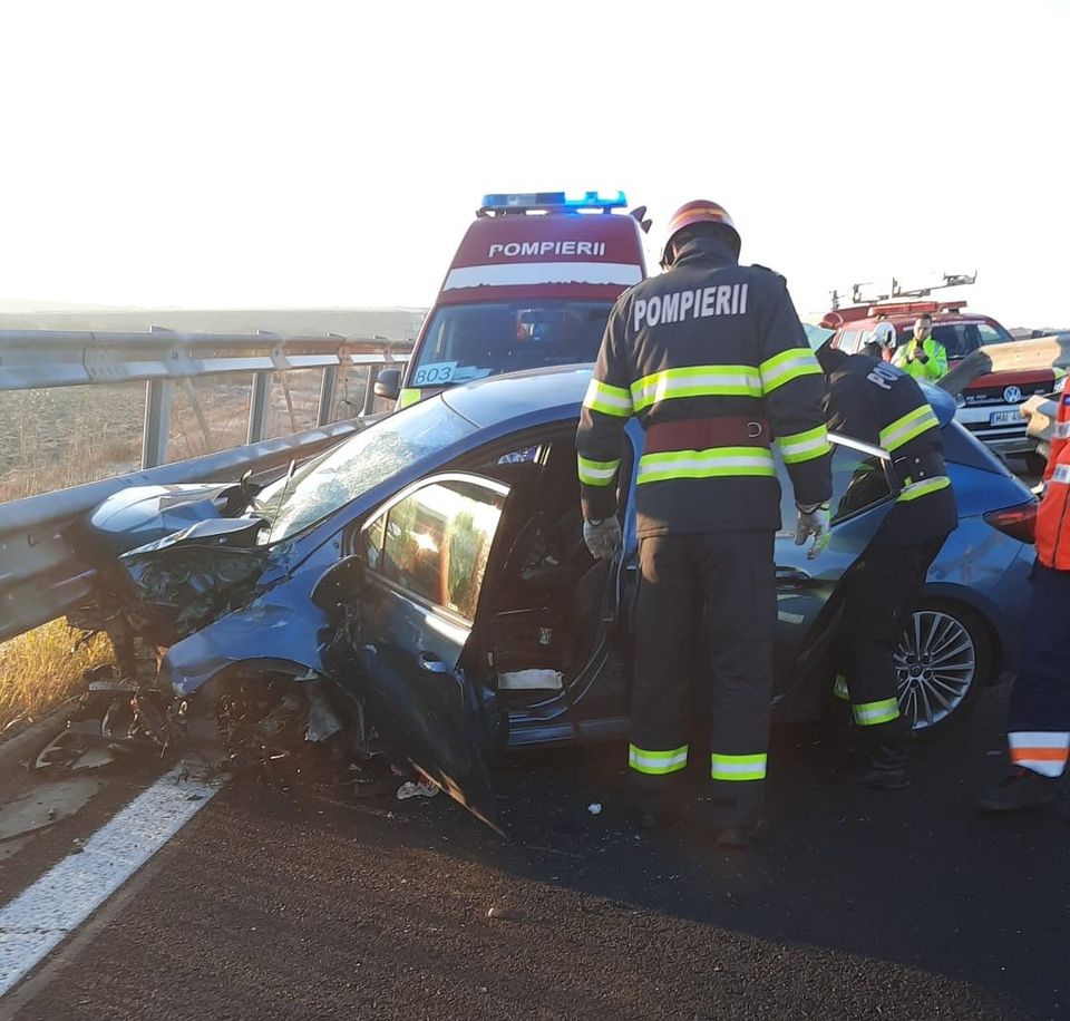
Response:
POLYGON ((777 619, 774 534, 779 444, 799 510, 796 543, 828 529, 830 445, 820 368, 782 276, 738 263, 717 203, 669 223, 665 272, 610 314, 576 434, 584 537, 597 557, 621 543, 614 480, 623 431, 645 431, 635 471, 640 584, 629 765, 640 823, 661 825, 689 758, 691 657, 708 612, 712 823, 742 846, 766 830, 777 619))

